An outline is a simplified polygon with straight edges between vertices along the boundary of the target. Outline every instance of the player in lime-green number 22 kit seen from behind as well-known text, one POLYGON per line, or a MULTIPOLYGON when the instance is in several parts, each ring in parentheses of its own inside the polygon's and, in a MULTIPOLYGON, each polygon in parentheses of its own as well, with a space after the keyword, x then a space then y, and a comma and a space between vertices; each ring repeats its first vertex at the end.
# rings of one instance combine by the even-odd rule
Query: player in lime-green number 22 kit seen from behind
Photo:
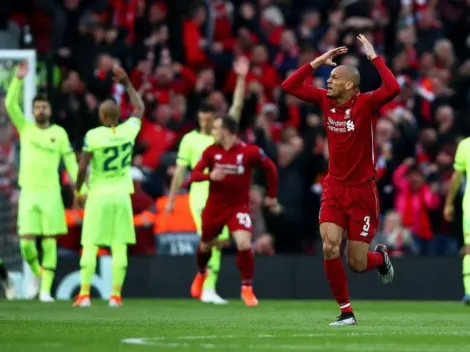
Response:
POLYGON ((121 289, 127 271, 127 246, 136 241, 131 204, 134 186, 130 170, 144 103, 121 67, 115 66, 113 73, 115 79, 126 87, 134 111, 126 122, 118 125, 119 106, 112 100, 104 101, 99 107, 103 126, 88 131, 85 136, 77 191, 85 182, 89 165, 91 170, 81 238, 81 288, 74 307, 91 305, 90 286, 100 246, 110 247, 112 252, 109 306, 122 306, 121 289))

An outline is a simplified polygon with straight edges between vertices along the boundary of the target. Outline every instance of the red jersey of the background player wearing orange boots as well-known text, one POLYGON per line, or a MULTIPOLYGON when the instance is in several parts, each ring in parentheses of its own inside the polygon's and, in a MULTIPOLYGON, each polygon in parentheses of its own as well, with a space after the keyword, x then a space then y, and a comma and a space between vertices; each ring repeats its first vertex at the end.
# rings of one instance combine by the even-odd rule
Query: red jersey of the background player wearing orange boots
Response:
POLYGON ((258 146, 240 140, 228 150, 218 144, 209 146, 194 167, 191 181, 210 180, 209 172, 222 168, 226 176, 222 181, 210 181, 206 207, 231 208, 249 205, 249 192, 253 168, 262 166, 266 171, 268 197, 277 196, 277 169, 258 146))

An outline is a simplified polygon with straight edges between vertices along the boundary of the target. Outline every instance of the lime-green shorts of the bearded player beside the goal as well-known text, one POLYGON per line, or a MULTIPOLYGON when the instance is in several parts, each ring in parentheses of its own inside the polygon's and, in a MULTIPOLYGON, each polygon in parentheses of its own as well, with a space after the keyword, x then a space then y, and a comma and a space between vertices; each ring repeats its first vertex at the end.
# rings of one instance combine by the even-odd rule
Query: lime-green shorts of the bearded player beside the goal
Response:
POLYGON ((18 234, 50 236, 67 234, 60 190, 22 190, 18 200, 18 234))

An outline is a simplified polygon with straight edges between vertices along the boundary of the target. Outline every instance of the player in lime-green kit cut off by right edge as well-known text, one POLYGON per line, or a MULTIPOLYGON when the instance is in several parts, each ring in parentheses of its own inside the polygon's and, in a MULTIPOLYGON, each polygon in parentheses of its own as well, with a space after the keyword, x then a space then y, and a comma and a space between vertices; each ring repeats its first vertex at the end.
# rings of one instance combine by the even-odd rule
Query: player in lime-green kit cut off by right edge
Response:
MULTIPOLYGON (((455 154, 454 160, 454 173, 452 175, 452 181, 450 183, 449 193, 447 194, 446 203, 444 206, 444 218, 447 221, 452 221, 454 217, 454 201, 458 190, 462 186, 464 181, 464 174, 469 175, 470 171, 470 138, 462 140, 455 154)), ((462 249, 463 257, 463 285, 465 289, 465 295, 463 302, 470 305, 470 182, 466 182, 465 194, 463 197, 462 210, 463 210, 463 238, 464 247, 462 249)))

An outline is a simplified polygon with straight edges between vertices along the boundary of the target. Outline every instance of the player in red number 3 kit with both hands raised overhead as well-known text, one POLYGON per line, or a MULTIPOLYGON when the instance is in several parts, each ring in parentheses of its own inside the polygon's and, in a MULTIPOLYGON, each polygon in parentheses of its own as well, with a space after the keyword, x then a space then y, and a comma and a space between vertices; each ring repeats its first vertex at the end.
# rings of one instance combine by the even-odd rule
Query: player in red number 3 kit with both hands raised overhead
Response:
POLYGON ((369 250, 378 226, 379 203, 375 183, 374 130, 377 111, 400 91, 400 86, 362 34, 358 36, 365 53, 379 72, 383 85, 373 92, 359 91, 360 75, 354 66, 333 69, 327 89, 304 83, 321 65, 347 52, 346 47, 332 49, 290 75, 282 88, 297 98, 319 105, 323 111, 330 155, 328 175, 323 182, 320 207, 320 234, 326 278, 341 315, 331 325, 353 325, 356 318, 349 301, 346 271, 340 245, 348 233, 348 265, 354 272, 377 269, 383 283, 392 282, 393 266, 384 245, 369 250))

